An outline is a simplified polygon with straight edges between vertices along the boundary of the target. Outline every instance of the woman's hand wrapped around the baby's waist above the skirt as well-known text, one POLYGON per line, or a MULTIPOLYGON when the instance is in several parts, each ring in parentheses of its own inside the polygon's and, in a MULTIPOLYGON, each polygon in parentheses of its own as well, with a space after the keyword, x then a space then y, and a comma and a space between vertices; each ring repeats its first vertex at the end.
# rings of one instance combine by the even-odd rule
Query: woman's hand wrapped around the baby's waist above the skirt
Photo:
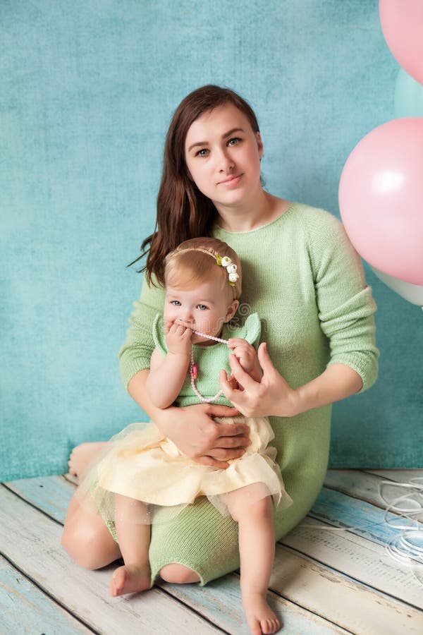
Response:
POLYGON ((216 423, 212 417, 233 417, 239 411, 229 406, 195 404, 170 406, 155 418, 157 428, 191 459, 222 469, 226 461, 237 459, 250 445, 245 423, 216 423))

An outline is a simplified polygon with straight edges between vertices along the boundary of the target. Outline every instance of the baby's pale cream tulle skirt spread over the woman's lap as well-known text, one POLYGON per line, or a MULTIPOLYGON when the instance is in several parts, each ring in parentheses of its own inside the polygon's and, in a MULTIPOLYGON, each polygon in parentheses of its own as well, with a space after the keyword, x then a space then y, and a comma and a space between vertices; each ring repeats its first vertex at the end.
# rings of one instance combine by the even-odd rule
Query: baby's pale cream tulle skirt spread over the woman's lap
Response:
POLYGON ((267 447, 274 438, 269 421, 238 416, 216 422, 250 427, 250 446, 239 459, 228 461, 228 468, 198 464, 154 423, 133 423, 112 437, 82 476, 78 500, 105 521, 142 524, 169 521, 198 496, 207 496, 221 514, 231 513, 235 495, 228 495, 241 489, 244 504, 270 495, 276 506, 288 507, 292 500, 275 462, 276 449, 267 447))

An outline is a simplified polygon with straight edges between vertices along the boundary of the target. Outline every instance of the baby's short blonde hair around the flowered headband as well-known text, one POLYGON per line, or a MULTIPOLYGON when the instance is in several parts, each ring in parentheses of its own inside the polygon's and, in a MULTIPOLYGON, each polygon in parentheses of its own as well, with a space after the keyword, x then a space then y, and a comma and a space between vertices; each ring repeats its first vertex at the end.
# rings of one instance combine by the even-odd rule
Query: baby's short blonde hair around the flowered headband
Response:
POLYGON ((180 243, 168 253, 164 261, 164 284, 176 289, 193 284, 201 284, 216 276, 221 279, 222 289, 232 291, 233 300, 241 295, 241 263, 235 251, 218 238, 191 238, 180 243), (237 266, 238 280, 229 283, 226 267, 217 264, 217 255, 228 256, 237 266), (213 258, 213 260, 212 260, 213 258), (214 261, 214 262, 213 262, 214 261))

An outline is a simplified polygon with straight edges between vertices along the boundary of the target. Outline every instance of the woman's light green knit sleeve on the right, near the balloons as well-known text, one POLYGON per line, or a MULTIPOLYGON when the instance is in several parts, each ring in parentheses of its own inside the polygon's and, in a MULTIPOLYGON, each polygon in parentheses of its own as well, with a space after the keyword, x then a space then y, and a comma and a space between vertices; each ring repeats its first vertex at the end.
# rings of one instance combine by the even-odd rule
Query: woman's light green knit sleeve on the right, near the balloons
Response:
POLYGON ((330 344, 328 366, 353 368, 362 378, 363 392, 378 371, 372 289, 341 222, 323 210, 314 212, 307 227, 309 254, 321 329, 330 344))

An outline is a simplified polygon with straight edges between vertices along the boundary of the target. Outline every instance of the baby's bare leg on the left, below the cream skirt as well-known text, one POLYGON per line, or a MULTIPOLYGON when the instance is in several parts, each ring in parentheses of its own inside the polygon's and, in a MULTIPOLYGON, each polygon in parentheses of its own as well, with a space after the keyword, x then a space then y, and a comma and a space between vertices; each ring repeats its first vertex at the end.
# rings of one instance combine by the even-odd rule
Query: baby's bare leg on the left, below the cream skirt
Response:
POLYGON ((140 522, 147 519, 147 515, 147 506, 141 501, 115 495, 116 533, 125 564, 118 567, 112 576, 110 595, 145 591, 150 586, 148 551, 151 526, 140 522))

